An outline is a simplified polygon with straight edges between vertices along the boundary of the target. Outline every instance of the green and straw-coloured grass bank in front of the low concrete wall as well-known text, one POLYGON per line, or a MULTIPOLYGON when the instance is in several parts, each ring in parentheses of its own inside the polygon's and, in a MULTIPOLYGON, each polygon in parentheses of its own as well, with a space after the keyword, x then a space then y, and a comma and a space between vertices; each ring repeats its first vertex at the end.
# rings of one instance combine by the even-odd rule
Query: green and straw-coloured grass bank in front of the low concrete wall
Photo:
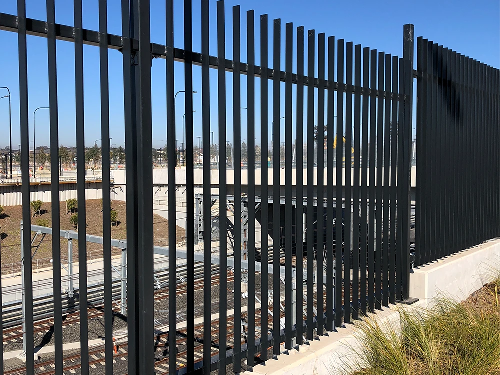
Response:
MULTIPOLYGON (((401 326, 360 325, 365 368, 356 375, 499 375, 500 279, 463 303, 400 310, 401 326)), ((359 365, 359 364, 358 364, 359 365)))

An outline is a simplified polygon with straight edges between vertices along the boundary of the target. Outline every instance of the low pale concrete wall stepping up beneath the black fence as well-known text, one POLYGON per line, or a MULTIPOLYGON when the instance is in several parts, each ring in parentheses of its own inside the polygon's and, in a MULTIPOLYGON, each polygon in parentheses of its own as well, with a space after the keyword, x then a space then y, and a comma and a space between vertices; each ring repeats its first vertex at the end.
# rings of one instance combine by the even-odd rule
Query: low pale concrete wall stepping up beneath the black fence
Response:
MULTIPOLYGON (((473 248, 461 251, 436 262, 415 268, 410 274, 410 296, 420 300, 410 306, 391 305, 370 317, 381 326, 399 326, 401 308, 432 308, 436 297, 446 296, 456 301, 465 300, 484 284, 498 277, 500 270, 500 239, 491 240, 473 248)), ((279 355, 275 360, 257 365, 253 375, 346 375, 362 363, 356 354, 361 343, 359 329, 354 324, 337 328, 317 340, 279 355)))

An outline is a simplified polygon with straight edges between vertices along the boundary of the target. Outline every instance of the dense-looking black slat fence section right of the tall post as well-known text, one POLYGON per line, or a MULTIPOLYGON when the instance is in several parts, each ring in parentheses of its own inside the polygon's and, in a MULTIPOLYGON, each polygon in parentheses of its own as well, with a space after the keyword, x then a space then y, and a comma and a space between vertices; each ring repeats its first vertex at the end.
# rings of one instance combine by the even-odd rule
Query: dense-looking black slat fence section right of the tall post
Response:
POLYGON ((500 74, 428 39, 417 50, 420 265, 500 235, 500 74))

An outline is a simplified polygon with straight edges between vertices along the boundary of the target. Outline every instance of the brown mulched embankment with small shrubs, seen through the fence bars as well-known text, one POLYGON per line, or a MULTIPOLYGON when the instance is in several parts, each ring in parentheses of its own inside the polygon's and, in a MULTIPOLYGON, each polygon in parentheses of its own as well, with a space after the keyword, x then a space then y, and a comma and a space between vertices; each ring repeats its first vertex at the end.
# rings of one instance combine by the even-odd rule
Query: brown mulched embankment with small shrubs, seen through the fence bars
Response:
MULTIPOLYGON (((2 273, 12 272, 11 263, 20 262, 20 221, 22 220, 22 206, 8 206, 0 218, 1 225, 1 265, 2 273)), ((111 237, 115 239, 126 239, 126 202, 113 200, 111 208, 118 213, 118 224, 111 226, 111 237)), ((37 225, 40 220, 47 220, 48 226, 52 226, 52 205, 43 203, 41 215, 31 217, 31 223, 37 225)), ((102 236, 102 201, 101 199, 86 201, 86 223, 87 234, 102 236)), ((66 203, 60 202, 60 226, 61 229, 74 230, 70 223, 70 213, 66 213, 66 203)), ((168 245, 168 220, 154 215, 154 244, 158 246, 168 245)), ((32 233, 32 237, 34 233, 32 233)), ((185 230, 177 226, 177 240, 185 238, 185 230)), ((37 240, 38 242, 38 240, 37 240)), ((61 238, 61 257, 67 259, 67 241, 61 238)), ((119 253, 120 250, 113 248, 113 252, 119 253)), ((48 262, 52 257, 52 236, 47 235, 40 245, 36 256, 33 259, 33 267, 39 266, 39 263, 48 262), (47 260, 42 260, 47 259, 47 260)), ((87 257, 102 257, 102 245, 96 243, 87 243, 87 257)), ((78 259, 78 241, 73 241, 73 259, 78 259)), ((47 263, 49 264, 49 263, 47 263)), ((14 270, 18 267, 14 267, 14 270)))

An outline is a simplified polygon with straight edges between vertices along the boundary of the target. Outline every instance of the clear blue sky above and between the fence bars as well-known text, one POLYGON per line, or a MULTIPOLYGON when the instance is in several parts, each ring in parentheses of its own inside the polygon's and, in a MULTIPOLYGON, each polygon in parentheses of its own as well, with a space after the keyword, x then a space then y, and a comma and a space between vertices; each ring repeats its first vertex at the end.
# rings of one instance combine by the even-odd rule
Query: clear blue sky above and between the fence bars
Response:
MULTIPOLYGON (((27 0, 27 16, 46 20, 45 1, 27 0)), ((57 23, 72 25, 72 1, 56 0, 57 23)), ((478 59, 486 64, 500 67, 500 1, 477 0, 474 2, 455 0, 401 1, 326 1, 326 0, 227 0, 226 5, 226 53, 232 58, 232 6, 241 3, 242 60, 246 61, 246 11, 255 10, 256 60, 259 64, 259 15, 268 14, 269 20, 269 60, 272 63, 272 20, 281 18, 282 58, 284 70, 284 27, 293 22, 294 26, 303 25, 305 29, 315 29, 316 34, 325 32, 326 36, 335 35, 355 44, 362 44, 393 55, 402 54, 402 30, 405 23, 415 25, 415 36, 434 40, 445 47, 478 59)), ((98 29, 98 0, 83 0, 83 25, 85 28, 98 29)), ((175 46, 182 48, 183 41, 183 0, 175 0, 175 46)), ((16 14, 16 1, 0 1, 0 12, 16 14)), ((210 53, 216 55, 216 1, 210 1, 210 53)), ((108 31, 121 34, 120 0, 108 0, 108 31)), ((151 1, 151 39, 165 43, 165 4, 161 0, 151 1)), ((200 51, 200 1, 193 1, 193 47, 200 51)), ((17 34, 0 31, 2 58, 0 59, 0 86, 8 86, 12 93, 13 147, 19 144, 19 100, 18 100, 18 59, 17 34)), ((295 45, 295 44, 294 44, 295 45)), ((307 48, 307 46, 306 46, 307 48)), ((57 42, 57 68, 59 93, 60 144, 75 145, 75 103, 74 103, 74 46, 72 43, 57 42)), ((99 59, 96 47, 84 47, 85 69, 85 129, 87 145, 93 144, 100 135, 100 98, 99 98, 99 59)), ((183 89, 183 64, 175 64, 175 91, 183 89)), ((295 69, 295 67, 294 67, 295 69)), ((32 129, 33 111, 39 106, 48 106, 47 40, 28 37, 28 80, 29 80, 29 119, 32 129)), ((110 86, 110 131, 111 144, 123 145, 123 78, 122 56, 118 51, 109 52, 110 86)), ((211 119, 212 129, 217 137, 217 80, 216 71, 211 72, 211 119)), ((242 106, 246 106, 246 84, 242 78, 242 106)), ((153 144, 162 146, 166 139, 165 110, 165 61, 154 60, 153 80, 153 144)), ((270 84, 270 90, 272 85, 270 84)), ((259 119, 260 89, 257 80, 257 121, 259 119)), ((194 135, 201 135, 201 70, 194 68, 194 135)), ((5 92, 6 94, 6 92, 5 92)), ((284 94, 284 86, 282 88, 284 94)), ((3 92, 0 93, 3 96, 3 92)), ((227 123, 228 139, 232 136, 232 79, 227 75, 227 123)), ((270 91, 270 101, 272 91, 270 91)), ((272 102, 270 103, 272 104, 272 102)), ((295 112, 295 111, 294 111, 295 112)), ((284 113, 282 100, 281 113, 284 113)), ((182 115, 184 98, 177 96, 177 139, 182 138, 182 115)), ((242 112, 243 132, 246 132, 246 113, 242 112)), ((272 121, 272 105, 269 106, 269 125, 272 121)), ((49 144, 48 111, 38 111, 37 145, 49 144)), ((295 123, 295 119, 293 119, 295 123)), ((258 127, 258 123, 257 123, 258 127)), ((8 100, 0 100, 0 146, 8 144, 8 100)), ((257 137, 259 130, 257 129, 257 137)), ((242 138, 246 138, 243 135, 242 138)), ((32 135, 31 135, 32 139, 32 135)), ((197 139, 194 139, 197 144, 197 139)), ((257 143, 259 141, 257 140, 257 143)), ((32 145, 31 145, 32 147, 32 145)))

